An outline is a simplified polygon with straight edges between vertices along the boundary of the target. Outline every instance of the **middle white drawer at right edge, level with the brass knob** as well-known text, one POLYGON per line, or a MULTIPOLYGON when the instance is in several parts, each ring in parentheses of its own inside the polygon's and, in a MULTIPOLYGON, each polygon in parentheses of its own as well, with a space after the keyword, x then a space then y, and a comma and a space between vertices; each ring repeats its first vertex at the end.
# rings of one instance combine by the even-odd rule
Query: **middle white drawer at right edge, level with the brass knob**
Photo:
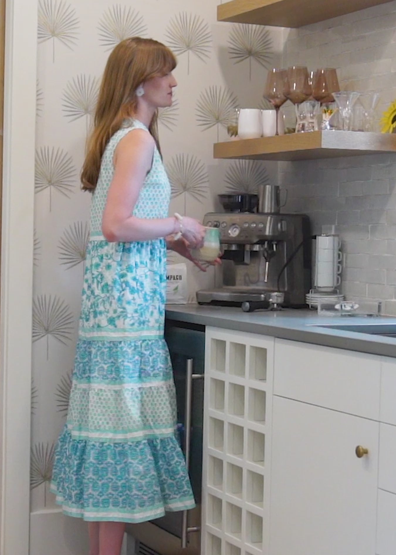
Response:
POLYGON ((396 493, 396 426, 388 424, 379 426, 378 485, 383 490, 396 493))

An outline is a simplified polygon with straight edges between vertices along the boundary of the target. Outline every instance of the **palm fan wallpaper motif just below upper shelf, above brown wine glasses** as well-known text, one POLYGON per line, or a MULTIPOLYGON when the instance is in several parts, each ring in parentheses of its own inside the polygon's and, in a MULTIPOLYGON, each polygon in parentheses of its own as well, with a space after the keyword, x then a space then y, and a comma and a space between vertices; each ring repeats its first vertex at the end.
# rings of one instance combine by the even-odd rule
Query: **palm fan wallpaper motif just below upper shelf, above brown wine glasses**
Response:
POLYGON ((229 38, 229 55, 238 64, 248 60, 249 79, 252 78, 252 59, 267 68, 271 62, 272 40, 268 29, 260 25, 235 25, 229 38))

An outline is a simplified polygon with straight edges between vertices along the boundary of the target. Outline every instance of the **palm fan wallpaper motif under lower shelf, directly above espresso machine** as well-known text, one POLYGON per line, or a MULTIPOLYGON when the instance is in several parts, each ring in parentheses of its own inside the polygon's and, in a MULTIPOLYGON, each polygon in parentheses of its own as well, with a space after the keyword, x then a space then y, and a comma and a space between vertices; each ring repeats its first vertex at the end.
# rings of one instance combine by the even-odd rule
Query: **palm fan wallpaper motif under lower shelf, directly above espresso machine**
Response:
POLYGON ((224 178, 230 193, 258 193, 260 185, 269 185, 266 168, 257 160, 236 160, 227 169, 224 178))

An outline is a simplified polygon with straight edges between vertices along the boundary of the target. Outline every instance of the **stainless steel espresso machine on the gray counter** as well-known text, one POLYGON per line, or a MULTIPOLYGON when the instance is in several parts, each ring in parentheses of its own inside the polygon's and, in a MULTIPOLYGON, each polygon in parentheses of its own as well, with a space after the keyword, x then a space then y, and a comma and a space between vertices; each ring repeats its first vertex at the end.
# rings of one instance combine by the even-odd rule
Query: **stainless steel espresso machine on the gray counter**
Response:
POLYGON ((282 214, 278 186, 262 185, 258 196, 250 195, 256 196, 257 211, 254 199, 238 209, 226 204, 229 196, 219 195, 230 211, 204 217, 204 225, 219 228, 223 254, 219 286, 197 291, 197 302, 245 311, 306 306, 312 254, 308 216, 282 214))

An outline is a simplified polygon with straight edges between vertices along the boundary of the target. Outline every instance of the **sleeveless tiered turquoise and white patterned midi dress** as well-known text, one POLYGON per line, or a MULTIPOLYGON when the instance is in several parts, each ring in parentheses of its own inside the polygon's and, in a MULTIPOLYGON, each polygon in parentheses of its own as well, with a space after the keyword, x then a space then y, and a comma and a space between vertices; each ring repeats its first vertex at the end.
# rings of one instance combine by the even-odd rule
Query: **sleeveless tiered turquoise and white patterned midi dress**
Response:
MULTIPOLYGON (((82 310, 67 421, 50 491, 87 521, 143 522, 195 506, 176 438, 176 396, 164 340, 165 239, 109 243, 101 219, 113 178, 110 139, 91 207, 82 310)), ((170 184, 158 149, 133 214, 166 218, 170 184)))

